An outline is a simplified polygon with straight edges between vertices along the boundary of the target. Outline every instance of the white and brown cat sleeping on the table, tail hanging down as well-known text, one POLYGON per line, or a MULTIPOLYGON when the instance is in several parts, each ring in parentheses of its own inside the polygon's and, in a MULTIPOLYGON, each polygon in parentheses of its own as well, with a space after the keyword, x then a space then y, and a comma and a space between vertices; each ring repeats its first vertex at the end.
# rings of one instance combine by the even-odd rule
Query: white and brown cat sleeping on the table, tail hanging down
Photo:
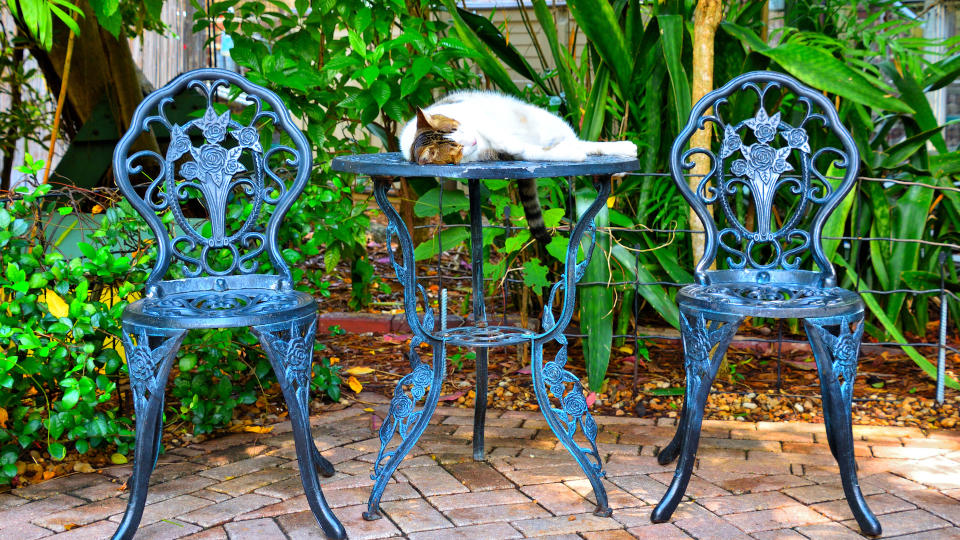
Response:
MULTIPOLYGON (((455 92, 417 109, 400 132, 403 157, 421 165, 470 161, 583 161, 588 155, 636 157, 630 141, 581 141, 559 116, 496 92, 455 92)), ((534 179, 517 181, 530 232, 550 242, 534 179)))

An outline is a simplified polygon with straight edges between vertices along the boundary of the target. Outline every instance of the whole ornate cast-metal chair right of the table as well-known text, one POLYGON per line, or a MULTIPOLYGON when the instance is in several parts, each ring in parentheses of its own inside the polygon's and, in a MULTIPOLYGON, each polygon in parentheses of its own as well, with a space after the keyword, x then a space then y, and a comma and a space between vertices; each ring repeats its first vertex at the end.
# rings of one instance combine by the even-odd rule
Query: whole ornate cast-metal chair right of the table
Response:
POLYGON ((836 286, 821 241, 824 223, 853 187, 859 160, 830 101, 786 75, 741 75, 693 108, 671 149, 670 171, 700 216, 706 242, 696 283, 677 295, 687 389, 677 433, 658 460, 680 460, 652 521, 670 519, 683 498, 707 395, 740 323, 745 317, 797 318, 816 358, 827 440, 847 502, 865 534, 880 534, 857 482, 850 417, 864 304, 857 293, 836 286), (777 106, 783 116, 767 111, 777 106), (694 132, 710 124, 721 138, 719 152, 687 150, 694 132), (812 149, 817 143, 825 146, 812 149), (695 154, 705 156, 710 169, 694 192, 684 172, 693 168, 695 154), (719 261, 722 269, 712 269, 718 248, 727 256, 719 261))

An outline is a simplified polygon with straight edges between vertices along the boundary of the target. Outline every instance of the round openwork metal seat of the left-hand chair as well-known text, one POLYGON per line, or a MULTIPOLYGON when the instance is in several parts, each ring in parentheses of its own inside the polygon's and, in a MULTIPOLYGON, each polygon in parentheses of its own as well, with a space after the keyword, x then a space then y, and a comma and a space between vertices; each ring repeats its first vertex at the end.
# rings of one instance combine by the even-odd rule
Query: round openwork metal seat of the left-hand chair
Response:
POLYGON ((316 309, 313 297, 300 291, 184 291, 137 300, 123 318, 164 328, 235 328, 296 319, 316 309))

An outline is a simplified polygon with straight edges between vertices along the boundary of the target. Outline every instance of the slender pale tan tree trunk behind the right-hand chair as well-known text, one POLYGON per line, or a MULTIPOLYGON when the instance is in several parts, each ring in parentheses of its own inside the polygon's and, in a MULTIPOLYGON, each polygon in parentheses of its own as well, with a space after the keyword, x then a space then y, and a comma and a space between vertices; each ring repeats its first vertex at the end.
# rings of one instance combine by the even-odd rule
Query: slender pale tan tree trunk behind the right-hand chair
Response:
MULTIPOLYGON (((700 0, 697 2, 693 15, 693 85, 692 98, 696 104, 700 98, 713 90, 713 39, 717 33, 717 26, 723 18, 723 2, 721 0, 700 0)), ((710 114, 710 111, 707 111, 710 114)), ((710 149, 713 140, 713 124, 707 123, 704 129, 697 130, 690 137, 690 148, 710 149)), ((710 171, 710 162, 702 154, 692 156, 696 165, 692 169, 692 176, 688 179, 690 189, 694 192, 700 184, 703 175, 710 171)), ((712 208, 707 207, 712 213, 712 208)), ((703 231, 703 223, 694 211, 690 210, 690 228, 694 231, 703 231)), ((693 259, 699 262, 703 257, 704 236, 694 234, 693 259)))

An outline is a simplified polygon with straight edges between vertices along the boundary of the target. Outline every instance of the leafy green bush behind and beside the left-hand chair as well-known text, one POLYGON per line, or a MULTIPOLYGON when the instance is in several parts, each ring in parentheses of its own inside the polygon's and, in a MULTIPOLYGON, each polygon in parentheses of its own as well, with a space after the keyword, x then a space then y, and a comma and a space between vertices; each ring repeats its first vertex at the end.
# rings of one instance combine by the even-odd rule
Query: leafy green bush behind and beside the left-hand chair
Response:
MULTIPOLYGON (((17 477, 17 461, 31 450, 61 460, 69 449, 84 454, 116 447, 126 454, 133 444, 116 336, 123 308, 139 297, 152 268, 154 241, 125 201, 51 202, 65 195, 78 194, 54 199, 43 185, 0 207, 0 340, 6 343, 0 346, 0 484, 17 477), (77 226, 90 226, 87 241, 78 244, 78 256, 65 256, 61 231, 50 224, 76 215, 77 204, 95 214, 77 215, 77 226)), ((302 204, 317 204, 303 198, 302 204)), ((275 383, 256 343, 247 329, 188 334, 168 393, 168 418, 172 413, 192 424, 194 434, 207 433, 228 425, 238 405, 256 402, 275 383)), ((313 375, 315 392, 339 399, 337 366, 323 359, 313 375)))

